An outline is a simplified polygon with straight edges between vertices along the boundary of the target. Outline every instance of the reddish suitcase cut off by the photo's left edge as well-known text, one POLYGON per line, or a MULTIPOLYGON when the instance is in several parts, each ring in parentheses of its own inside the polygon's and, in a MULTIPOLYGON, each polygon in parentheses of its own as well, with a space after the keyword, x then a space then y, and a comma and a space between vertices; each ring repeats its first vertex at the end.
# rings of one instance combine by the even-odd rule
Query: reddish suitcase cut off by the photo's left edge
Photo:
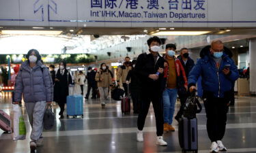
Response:
POLYGON ((0 128, 5 132, 11 132, 11 118, 8 114, 0 109, 0 128))

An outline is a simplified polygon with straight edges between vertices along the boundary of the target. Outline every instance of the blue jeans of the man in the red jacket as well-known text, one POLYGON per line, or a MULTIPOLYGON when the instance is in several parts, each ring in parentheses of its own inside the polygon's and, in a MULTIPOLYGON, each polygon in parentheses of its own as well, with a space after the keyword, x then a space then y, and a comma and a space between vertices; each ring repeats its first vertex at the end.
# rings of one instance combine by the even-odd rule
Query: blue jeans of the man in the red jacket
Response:
POLYGON ((177 88, 166 88, 162 93, 162 101, 164 107, 164 122, 173 123, 173 114, 175 111, 175 103, 177 99, 177 88))

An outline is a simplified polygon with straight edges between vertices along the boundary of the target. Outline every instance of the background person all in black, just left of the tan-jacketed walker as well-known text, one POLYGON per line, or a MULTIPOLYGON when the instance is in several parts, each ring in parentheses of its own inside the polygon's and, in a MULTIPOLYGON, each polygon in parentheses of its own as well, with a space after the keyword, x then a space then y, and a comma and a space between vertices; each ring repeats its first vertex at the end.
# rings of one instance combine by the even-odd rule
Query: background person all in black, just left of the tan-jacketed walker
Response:
POLYGON ((91 67, 88 67, 88 71, 87 71, 87 94, 85 96, 85 99, 89 98, 89 94, 92 88, 92 97, 91 99, 96 99, 96 81, 95 81, 95 75, 96 75, 96 71, 92 71, 91 67))

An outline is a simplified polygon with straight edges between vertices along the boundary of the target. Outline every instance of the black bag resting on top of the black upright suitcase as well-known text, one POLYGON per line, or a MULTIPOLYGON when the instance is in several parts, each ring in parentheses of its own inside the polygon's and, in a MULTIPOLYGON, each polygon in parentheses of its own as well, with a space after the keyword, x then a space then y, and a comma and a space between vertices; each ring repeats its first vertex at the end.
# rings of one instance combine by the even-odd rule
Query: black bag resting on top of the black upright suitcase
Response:
POLYGON ((186 99, 186 103, 184 104, 184 118, 196 118, 197 113, 200 113, 202 110, 201 103, 199 103, 197 97, 195 96, 195 92, 190 93, 188 99, 186 99), (197 109, 199 107, 199 109, 197 109))

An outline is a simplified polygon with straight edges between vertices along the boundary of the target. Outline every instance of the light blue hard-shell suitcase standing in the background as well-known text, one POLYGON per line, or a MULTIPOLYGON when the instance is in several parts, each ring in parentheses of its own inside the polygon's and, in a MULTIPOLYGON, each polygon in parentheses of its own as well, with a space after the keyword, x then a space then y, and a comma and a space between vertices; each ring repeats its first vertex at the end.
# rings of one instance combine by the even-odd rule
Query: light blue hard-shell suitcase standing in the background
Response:
POLYGON ((67 97, 67 117, 82 116, 83 118, 83 96, 70 95, 67 97))

